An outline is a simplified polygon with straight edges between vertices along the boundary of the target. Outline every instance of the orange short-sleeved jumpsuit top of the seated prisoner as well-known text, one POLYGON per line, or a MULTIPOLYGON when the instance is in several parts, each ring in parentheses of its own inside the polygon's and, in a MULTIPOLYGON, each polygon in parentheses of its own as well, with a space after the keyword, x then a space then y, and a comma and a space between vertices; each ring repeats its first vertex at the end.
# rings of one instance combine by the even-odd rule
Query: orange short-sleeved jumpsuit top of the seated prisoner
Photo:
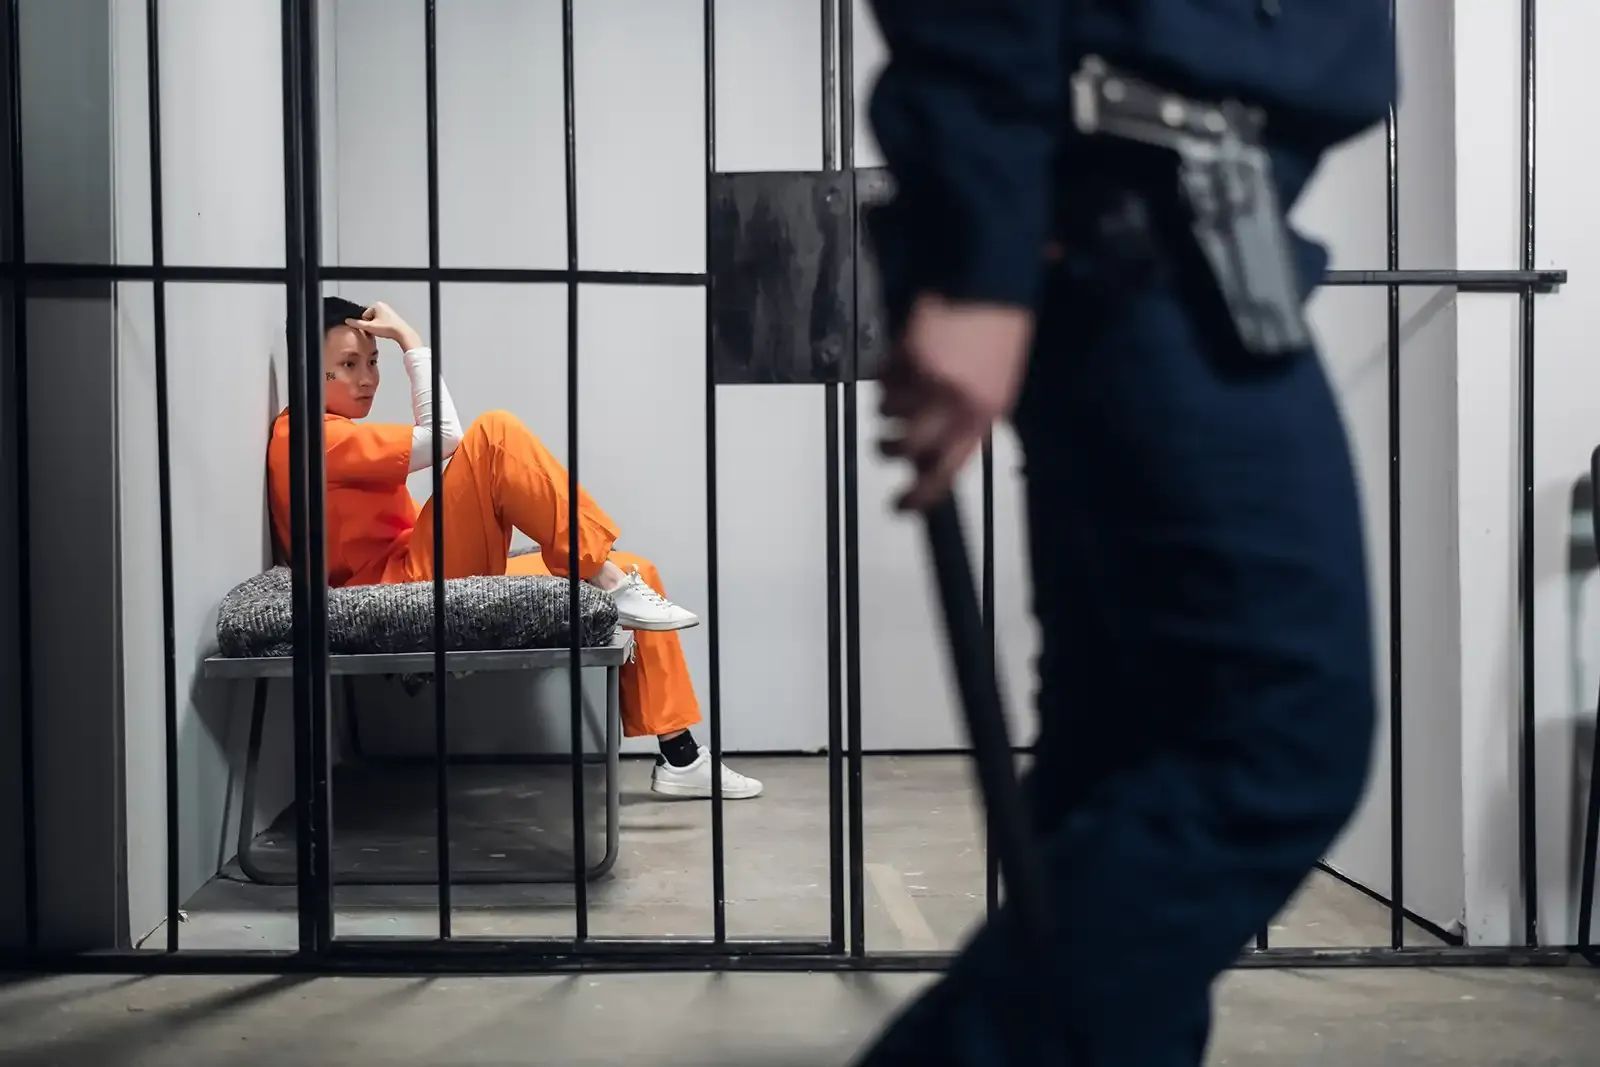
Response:
MULTIPOLYGON (((323 414, 323 470, 328 482, 328 584, 376 585, 392 560, 405 558, 416 526, 410 426, 352 422, 323 414)), ((272 424, 267 445, 267 494, 278 552, 290 542, 290 413, 272 424)))

